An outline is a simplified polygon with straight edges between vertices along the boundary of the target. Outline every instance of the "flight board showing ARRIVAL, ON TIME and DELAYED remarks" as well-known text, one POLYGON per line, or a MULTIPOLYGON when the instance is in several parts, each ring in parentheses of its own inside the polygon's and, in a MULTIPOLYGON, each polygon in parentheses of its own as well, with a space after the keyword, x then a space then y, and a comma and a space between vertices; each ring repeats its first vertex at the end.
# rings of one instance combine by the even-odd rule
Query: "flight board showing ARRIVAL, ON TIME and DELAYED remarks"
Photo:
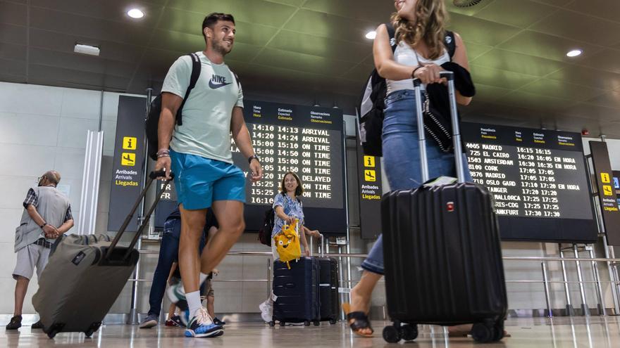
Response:
MULTIPOLYGON (((265 211, 280 192, 286 172, 302 180, 306 225, 321 233, 345 234, 345 155, 342 110, 244 101, 244 119, 263 165, 263 179, 246 185, 249 231, 263 225, 265 211)), ((247 172, 247 158, 233 141, 235 165, 247 172)))

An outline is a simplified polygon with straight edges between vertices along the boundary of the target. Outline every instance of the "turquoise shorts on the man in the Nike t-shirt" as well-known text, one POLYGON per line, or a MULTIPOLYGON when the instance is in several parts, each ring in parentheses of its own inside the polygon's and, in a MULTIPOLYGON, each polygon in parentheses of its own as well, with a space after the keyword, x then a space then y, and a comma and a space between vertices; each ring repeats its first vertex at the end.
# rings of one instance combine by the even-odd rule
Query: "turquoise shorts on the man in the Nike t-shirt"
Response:
POLYGON ((177 200, 187 210, 206 209, 216 200, 245 202, 245 176, 235 165, 170 151, 177 200))

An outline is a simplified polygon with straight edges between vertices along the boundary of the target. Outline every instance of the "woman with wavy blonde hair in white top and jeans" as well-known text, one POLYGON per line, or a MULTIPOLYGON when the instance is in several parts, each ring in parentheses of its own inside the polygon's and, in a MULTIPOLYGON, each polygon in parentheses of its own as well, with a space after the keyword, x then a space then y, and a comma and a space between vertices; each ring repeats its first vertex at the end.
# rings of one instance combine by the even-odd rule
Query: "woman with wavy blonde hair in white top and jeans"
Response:
MULTIPOLYGON (((397 0, 391 23, 395 28, 397 47, 392 53, 386 25, 377 28, 373 45, 375 67, 387 82, 385 120, 383 121, 383 159, 392 190, 406 190, 421 185, 418 129, 413 78, 423 84, 442 83, 443 63, 450 61, 444 45, 447 13, 443 0, 397 0)), ((465 45, 454 33, 456 50, 452 62, 469 70, 465 45)), ((467 105, 471 98, 457 92, 457 102, 467 105)), ((443 152, 433 141, 427 141, 430 177, 455 176, 454 155, 443 152)), ((467 168, 467 166, 465 166, 467 168)), ((469 172, 466 171, 466 177, 469 172)), ((471 181, 471 179, 469 179, 471 181)), ((361 280, 351 289, 351 303, 345 304, 349 326, 354 333, 371 337, 368 320, 371 295, 383 276, 383 239, 379 236, 368 257, 361 264, 361 280)), ((458 328, 459 332, 469 327, 458 328)))

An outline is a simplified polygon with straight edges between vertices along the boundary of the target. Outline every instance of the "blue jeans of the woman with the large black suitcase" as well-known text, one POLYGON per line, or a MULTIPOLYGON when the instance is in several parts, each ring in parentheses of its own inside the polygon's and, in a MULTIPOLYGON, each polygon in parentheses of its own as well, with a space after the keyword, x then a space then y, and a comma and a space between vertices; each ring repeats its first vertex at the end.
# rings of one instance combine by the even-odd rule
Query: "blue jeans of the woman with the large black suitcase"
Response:
MULTIPOLYGON (((383 120, 383 165, 390 190, 409 190, 421 186, 422 172, 415 115, 416 98, 412 89, 394 91, 385 98, 383 120)), ((456 176, 452 152, 443 152, 432 138, 426 139, 428 177, 456 176)), ((471 181, 467 159, 463 155, 465 180, 471 181)), ((366 271, 383 274, 383 236, 379 236, 361 267, 366 271)))

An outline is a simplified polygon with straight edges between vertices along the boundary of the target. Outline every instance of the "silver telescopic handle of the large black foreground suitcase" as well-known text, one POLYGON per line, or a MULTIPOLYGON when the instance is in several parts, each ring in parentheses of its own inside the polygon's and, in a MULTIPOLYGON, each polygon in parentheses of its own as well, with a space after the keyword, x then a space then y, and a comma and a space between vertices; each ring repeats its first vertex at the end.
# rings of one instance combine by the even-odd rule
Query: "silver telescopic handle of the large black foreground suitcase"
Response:
MULTIPOLYGON (((440 77, 447 79, 448 97, 450 99, 450 120, 452 121, 452 143, 454 143, 454 163, 457 167, 457 179, 459 183, 465 181, 465 167, 463 163, 463 148, 461 146, 461 129, 459 127, 459 114, 457 111, 457 94, 454 89, 454 72, 442 71, 440 77)), ((426 156, 426 131, 424 131, 424 117, 422 114, 422 82, 414 79, 414 90, 416 96, 416 117, 418 120, 418 136, 420 148, 420 162, 422 170, 422 181, 428 181, 428 157, 426 156)))

